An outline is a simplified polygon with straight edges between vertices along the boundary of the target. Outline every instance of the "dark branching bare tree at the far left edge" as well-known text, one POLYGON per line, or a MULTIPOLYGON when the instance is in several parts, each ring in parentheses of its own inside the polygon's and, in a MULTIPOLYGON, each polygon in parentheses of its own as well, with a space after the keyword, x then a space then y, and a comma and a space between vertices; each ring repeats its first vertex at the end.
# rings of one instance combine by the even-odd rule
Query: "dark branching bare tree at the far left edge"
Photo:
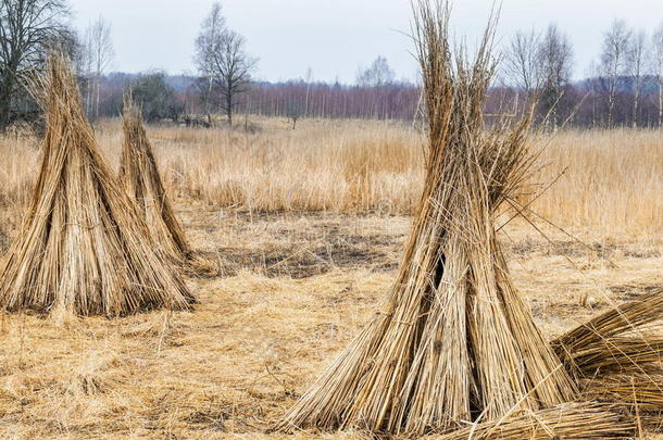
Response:
POLYGON ((67 15, 65 0, 0 0, 0 129, 27 117, 26 81, 71 37, 67 15))

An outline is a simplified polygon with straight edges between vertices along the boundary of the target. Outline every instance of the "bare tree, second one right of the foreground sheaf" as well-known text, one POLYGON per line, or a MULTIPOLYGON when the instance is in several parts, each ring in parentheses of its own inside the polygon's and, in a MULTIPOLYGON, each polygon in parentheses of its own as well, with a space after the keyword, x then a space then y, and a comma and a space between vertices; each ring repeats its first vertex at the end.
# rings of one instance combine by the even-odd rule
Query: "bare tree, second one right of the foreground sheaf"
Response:
POLYGON ((559 103, 571 80, 573 47, 556 25, 548 26, 539 46, 537 61, 541 68, 541 105, 552 129, 559 125, 559 103))

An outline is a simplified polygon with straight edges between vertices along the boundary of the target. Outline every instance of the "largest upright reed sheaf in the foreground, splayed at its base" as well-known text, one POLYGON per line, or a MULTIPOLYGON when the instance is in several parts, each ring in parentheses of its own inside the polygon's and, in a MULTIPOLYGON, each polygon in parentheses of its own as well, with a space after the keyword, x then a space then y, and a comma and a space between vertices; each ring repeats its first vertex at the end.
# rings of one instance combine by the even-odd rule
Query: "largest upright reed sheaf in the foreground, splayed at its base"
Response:
POLYGON ((623 406, 573 403, 583 395, 573 361, 595 339, 576 330, 551 344, 511 281, 496 219, 504 208, 525 209, 518 200, 538 156, 531 121, 485 124, 495 21, 468 61, 449 42, 449 10, 442 1, 414 5, 428 143, 398 278, 384 309, 277 429, 627 438, 635 424, 623 406))

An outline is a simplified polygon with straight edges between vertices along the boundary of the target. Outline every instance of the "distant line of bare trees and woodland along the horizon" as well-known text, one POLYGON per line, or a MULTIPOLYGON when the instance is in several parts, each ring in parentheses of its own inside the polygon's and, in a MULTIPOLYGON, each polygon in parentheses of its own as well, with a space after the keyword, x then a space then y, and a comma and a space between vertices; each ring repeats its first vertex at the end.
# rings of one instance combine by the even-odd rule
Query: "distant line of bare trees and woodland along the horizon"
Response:
MULTIPOLYGON (((163 120, 212 126, 249 115, 282 116, 292 127, 303 117, 413 121, 421 90, 397 80, 387 59, 377 56, 354 84, 305 77, 257 81, 258 60, 246 39, 230 29, 214 3, 195 41, 198 75, 109 73, 114 55, 111 25, 102 17, 82 36, 71 29, 66 0, 0 0, 0 130, 39 116, 30 85, 48 50, 63 50, 76 65, 90 120, 116 116, 127 88, 148 122, 163 120)), ((503 47, 499 80, 490 89, 488 114, 520 116, 536 103, 537 123, 550 130, 576 127, 663 127, 663 24, 650 33, 615 21, 603 33, 601 52, 587 79, 573 80, 572 41, 555 25, 517 32, 503 47)))

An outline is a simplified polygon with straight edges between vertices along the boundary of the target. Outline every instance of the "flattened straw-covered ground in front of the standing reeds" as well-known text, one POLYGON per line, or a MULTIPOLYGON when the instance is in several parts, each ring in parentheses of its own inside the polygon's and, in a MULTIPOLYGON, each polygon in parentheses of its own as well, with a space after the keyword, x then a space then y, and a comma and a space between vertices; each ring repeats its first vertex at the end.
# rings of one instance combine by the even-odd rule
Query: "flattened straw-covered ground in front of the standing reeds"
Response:
MULTIPOLYGON (((0 317, 0 438, 371 439, 265 430, 373 316, 398 275, 409 218, 175 206, 191 246, 218 249, 238 272, 193 279, 196 313, 93 317, 64 327, 39 316, 0 317), (327 247, 340 252, 328 254, 327 247), (250 254, 254 261, 243 260, 250 254), (343 255, 352 260, 341 262, 343 255)), ((510 268, 547 336, 605 310, 608 300, 663 285, 661 246, 636 259, 625 252, 639 244, 620 241, 614 265, 578 247, 573 259, 591 263, 578 271, 563 257, 568 249, 549 248, 523 226, 509 230, 510 268), (601 301, 583 305, 586 296, 601 301)))

